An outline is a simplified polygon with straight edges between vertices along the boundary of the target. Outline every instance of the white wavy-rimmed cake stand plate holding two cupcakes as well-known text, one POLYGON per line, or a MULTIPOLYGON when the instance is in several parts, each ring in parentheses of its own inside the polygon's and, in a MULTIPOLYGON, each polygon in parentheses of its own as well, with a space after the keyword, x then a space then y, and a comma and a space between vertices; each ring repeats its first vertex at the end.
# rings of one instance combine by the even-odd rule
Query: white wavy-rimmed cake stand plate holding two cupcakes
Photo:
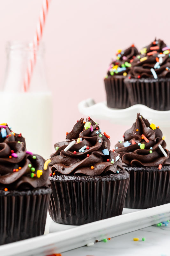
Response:
POLYGON ((85 116, 96 119, 109 120, 115 124, 131 125, 136 120, 137 113, 141 113, 146 119, 152 119, 155 123, 161 123, 161 127, 170 127, 170 111, 158 111, 145 105, 137 104, 125 109, 108 108, 106 102, 95 103, 91 98, 81 101, 78 110, 85 116))

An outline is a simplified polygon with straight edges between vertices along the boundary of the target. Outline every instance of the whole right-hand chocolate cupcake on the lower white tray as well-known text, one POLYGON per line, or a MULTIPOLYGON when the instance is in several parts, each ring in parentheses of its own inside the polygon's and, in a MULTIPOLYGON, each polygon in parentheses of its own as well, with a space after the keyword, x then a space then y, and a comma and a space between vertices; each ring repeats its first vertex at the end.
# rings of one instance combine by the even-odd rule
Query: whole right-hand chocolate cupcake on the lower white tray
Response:
POLYGON ((115 145, 123 167, 130 174, 125 207, 145 209, 170 202, 170 158, 165 138, 155 124, 139 113, 115 145))

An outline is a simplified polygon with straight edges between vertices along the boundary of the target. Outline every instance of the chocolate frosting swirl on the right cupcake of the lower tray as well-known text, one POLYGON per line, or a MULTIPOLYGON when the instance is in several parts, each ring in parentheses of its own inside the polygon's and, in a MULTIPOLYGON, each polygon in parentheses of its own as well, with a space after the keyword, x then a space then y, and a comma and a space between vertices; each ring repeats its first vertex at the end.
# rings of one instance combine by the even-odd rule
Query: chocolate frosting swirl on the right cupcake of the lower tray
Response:
POLYGON ((122 162, 128 166, 159 167, 170 164, 169 151, 162 139, 161 130, 154 124, 150 125, 139 113, 136 122, 124 133, 124 142, 117 143, 115 148, 122 162), (159 145, 167 156, 162 153, 159 145))

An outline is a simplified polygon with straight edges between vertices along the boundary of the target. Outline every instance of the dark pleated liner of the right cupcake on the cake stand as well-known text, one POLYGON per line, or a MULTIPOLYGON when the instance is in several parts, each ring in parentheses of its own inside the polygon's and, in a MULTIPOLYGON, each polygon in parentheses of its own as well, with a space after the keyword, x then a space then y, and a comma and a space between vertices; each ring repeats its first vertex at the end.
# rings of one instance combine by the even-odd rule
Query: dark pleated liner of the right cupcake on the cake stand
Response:
POLYGON ((151 109, 170 110, 170 78, 126 78, 131 105, 143 104, 151 109))

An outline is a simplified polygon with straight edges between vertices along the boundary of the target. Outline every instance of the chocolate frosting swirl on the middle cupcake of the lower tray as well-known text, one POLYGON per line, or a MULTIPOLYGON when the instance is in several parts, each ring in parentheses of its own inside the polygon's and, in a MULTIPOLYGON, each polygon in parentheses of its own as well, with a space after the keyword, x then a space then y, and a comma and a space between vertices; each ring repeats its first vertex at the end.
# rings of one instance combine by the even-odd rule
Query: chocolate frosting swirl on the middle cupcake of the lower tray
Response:
POLYGON ((54 147, 56 152, 50 155, 50 175, 98 176, 116 174, 123 169, 120 155, 110 150, 109 139, 101 134, 98 124, 91 118, 86 122, 83 118, 77 121, 66 141, 56 143, 54 147), (77 143, 64 151, 73 141, 77 143))

